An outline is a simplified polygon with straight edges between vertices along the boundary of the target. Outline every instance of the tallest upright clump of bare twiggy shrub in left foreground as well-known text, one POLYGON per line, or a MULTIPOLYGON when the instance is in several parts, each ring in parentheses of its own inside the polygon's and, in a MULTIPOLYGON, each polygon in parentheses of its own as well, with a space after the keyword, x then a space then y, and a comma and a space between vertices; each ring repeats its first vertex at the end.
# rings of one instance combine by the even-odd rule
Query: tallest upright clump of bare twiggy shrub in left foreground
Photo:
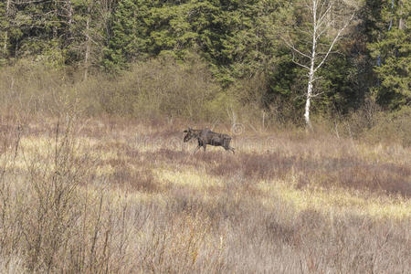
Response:
POLYGON ((32 271, 54 269, 58 257, 64 256, 81 213, 79 184, 90 174, 90 159, 77 153, 79 142, 70 123, 65 124, 64 132, 57 124, 45 162, 39 162, 36 155, 31 159, 24 156, 31 195, 24 205, 29 217, 23 223, 23 244, 29 258, 28 269, 32 271))

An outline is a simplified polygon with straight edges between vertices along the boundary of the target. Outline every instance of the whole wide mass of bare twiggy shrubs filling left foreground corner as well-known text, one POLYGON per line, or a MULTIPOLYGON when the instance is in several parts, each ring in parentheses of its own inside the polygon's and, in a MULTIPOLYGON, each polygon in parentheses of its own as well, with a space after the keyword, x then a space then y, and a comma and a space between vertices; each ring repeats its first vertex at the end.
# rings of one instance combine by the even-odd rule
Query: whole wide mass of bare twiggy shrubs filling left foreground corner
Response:
MULTIPOLYGON (((58 122, 46 147, 16 153, 16 144, 15 156, 5 159, 10 165, 15 160, 24 162, 26 169, 3 169, 0 253, 2 258, 21 258, 22 269, 29 272, 68 268, 71 260, 67 258, 79 251, 71 248, 73 241, 84 243, 88 237, 80 225, 87 212, 79 189, 83 181, 90 180, 93 161, 89 154, 79 153, 75 134, 71 119, 58 122)), ((12 260, 6 262, 6 268, 10 269, 10 264, 12 260)))

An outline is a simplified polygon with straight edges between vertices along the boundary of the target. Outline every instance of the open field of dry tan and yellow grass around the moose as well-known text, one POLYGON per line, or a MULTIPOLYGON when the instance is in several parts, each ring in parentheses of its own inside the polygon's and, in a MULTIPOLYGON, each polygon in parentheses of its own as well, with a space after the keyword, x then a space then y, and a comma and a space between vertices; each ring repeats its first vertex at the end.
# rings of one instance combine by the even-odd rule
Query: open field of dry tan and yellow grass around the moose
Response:
POLYGON ((179 121, 19 123, 0 128, 2 273, 411 272, 409 147, 245 126, 235 154, 193 153, 179 121))

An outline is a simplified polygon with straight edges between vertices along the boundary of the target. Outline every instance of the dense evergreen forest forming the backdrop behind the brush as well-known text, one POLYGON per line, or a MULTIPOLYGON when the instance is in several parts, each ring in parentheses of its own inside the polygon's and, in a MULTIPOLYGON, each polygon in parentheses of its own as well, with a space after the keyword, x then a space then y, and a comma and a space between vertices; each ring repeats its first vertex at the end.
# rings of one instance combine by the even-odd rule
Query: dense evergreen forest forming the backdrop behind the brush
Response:
POLYGON ((312 78, 313 112, 341 117, 370 102, 383 111, 409 107, 411 3, 404 0, 3 0, 0 64, 24 60, 81 80, 118 80, 136 67, 173 74, 200 63, 205 68, 191 75, 210 73, 213 86, 204 88, 219 91, 204 96, 215 105, 231 92, 242 104, 302 121, 317 26, 311 2, 317 25, 326 26, 314 34, 325 59, 312 78))

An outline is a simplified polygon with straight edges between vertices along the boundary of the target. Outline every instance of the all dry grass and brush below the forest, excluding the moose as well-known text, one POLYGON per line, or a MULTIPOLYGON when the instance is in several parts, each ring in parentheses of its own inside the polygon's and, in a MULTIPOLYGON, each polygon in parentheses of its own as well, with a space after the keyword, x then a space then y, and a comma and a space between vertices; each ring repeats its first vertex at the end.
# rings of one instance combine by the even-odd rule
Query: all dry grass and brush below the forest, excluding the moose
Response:
POLYGON ((409 110, 308 133, 246 84, 195 59, 1 68, 0 272, 410 272, 409 110), (237 153, 194 154, 188 125, 237 153))

